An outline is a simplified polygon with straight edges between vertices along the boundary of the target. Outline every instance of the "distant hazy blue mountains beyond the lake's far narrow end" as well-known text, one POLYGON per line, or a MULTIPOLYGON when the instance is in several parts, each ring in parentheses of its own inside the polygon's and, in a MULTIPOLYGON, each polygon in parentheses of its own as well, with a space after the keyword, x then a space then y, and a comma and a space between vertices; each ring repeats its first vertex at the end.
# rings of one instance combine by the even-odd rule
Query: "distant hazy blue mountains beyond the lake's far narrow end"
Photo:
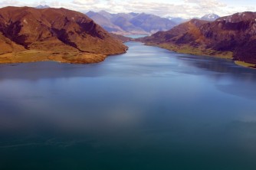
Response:
POLYGON ((87 15, 114 34, 153 34, 157 31, 167 31, 177 25, 168 18, 145 13, 110 14, 107 11, 89 11, 87 15))

